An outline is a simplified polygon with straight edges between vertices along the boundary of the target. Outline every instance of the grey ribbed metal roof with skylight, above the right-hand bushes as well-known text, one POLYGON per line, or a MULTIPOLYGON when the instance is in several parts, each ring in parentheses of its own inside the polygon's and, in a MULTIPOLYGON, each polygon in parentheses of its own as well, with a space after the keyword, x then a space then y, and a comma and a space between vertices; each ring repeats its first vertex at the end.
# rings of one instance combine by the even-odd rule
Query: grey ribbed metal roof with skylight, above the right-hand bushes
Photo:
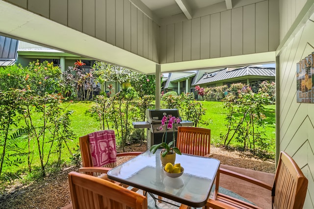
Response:
POLYGON ((242 76, 273 76, 275 77, 275 68, 260 68, 254 66, 246 66, 242 68, 225 68, 216 72, 205 73, 203 77, 194 85, 211 83, 216 81, 227 80, 230 78, 237 78, 242 76))

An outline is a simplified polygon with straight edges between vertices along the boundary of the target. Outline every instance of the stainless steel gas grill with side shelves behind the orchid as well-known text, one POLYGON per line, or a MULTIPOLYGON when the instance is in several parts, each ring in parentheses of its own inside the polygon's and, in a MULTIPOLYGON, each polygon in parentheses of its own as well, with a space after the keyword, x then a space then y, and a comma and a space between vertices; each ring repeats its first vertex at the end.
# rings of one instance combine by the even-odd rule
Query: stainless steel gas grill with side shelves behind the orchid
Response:
MULTIPOLYGON (((151 145, 161 143, 162 138, 165 134, 166 127, 161 126, 161 119, 164 116, 172 115, 175 117, 180 117, 178 109, 160 109, 160 110, 146 110, 146 121, 133 122, 134 128, 147 128, 147 149, 151 145)), ((181 118, 181 117, 180 117, 181 118)), ((192 121, 182 120, 179 124, 175 124, 175 128, 167 130, 166 142, 169 143, 172 140, 173 134, 177 138, 178 126, 193 126, 192 121)))

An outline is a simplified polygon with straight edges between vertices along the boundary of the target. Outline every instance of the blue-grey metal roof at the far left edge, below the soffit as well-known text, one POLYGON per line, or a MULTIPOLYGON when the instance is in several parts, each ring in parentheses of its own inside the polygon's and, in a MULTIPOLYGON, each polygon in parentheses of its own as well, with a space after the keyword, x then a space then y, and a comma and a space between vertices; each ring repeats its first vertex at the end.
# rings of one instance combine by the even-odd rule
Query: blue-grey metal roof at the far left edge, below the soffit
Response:
POLYGON ((17 59, 19 41, 0 36, 0 66, 13 65, 17 59))

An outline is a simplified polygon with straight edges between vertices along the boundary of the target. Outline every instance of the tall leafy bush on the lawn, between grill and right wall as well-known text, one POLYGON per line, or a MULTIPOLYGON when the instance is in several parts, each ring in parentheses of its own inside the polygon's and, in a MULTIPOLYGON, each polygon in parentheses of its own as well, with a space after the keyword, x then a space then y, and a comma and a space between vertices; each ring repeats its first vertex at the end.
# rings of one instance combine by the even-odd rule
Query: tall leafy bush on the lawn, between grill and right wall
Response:
POLYGON ((223 144, 229 146, 232 140, 242 143, 243 149, 265 150, 272 146, 264 136, 264 105, 270 103, 267 93, 253 93, 244 84, 234 84, 223 99, 227 114, 227 133, 221 136, 223 144))

